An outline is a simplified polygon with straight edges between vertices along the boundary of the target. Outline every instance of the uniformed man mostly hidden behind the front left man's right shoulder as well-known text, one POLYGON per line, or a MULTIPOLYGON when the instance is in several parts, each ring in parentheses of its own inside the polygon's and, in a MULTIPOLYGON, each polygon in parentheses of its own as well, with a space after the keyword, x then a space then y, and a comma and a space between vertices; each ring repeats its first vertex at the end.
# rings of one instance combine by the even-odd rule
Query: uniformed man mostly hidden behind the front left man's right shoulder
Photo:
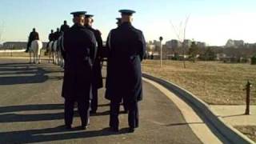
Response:
POLYGON ((94 15, 86 14, 85 19, 85 27, 86 29, 92 31, 94 33, 94 36, 96 38, 97 44, 98 44, 98 52, 96 55, 96 59, 93 66, 93 87, 92 87, 92 94, 93 98, 90 103, 90 114, 95 114, 98 109, 98 89, 103 87, 102 82, 102 66, 101 66, 101 50, 102 50, 102 36, 101 32, 99 30, 95 30, 92 28, 92 24, 94 22, 93 19, 94 15))

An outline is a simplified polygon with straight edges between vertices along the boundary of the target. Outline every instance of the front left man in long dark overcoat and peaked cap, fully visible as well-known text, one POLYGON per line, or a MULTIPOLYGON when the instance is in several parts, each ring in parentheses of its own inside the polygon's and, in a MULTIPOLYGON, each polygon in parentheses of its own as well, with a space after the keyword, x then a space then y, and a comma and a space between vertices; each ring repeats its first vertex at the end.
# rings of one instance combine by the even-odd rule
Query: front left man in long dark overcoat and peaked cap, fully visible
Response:
POLYGON ((65 124, 70 129, 74 116, 74 103, 78 102, 78 112, 82 129, 89 123, 92 66, 97 53, 94 34, 85 29, 85 11, 71 13, 74 26, 63 35, 62 46, 65 55, 62 97, 65 98, 65 124))

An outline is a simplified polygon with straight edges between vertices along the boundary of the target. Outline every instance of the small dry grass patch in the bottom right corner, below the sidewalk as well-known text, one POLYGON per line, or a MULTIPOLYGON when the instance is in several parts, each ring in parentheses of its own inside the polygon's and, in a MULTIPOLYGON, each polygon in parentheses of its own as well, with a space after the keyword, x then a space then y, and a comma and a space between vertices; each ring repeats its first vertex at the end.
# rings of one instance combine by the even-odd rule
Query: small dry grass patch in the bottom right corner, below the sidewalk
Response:
POLYGON ((242 134, 246 134, 247 137, 256 142, 256 126, 234 126, 242 134))

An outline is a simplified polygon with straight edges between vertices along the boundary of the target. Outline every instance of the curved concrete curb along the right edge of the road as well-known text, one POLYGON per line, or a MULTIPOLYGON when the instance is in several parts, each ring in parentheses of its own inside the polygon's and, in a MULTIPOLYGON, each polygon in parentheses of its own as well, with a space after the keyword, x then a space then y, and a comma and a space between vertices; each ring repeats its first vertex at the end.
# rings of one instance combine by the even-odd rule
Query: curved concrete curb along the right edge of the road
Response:
POLYGON ((164 86, 167 90, 172 91, 179 98, 186 100, 190 106, 198 110, 198 112, 202 114, 202 116, 205 117, 206 120, 210 122, 210 124, 214 126, 214 128, 216 128, 216 130, 218 130, 218 132, 231 143, 255 143, 250 138, 247 138, 244 134, 234 129, 234 127, 225 123, 222 118, 217 116, 218 114, 216 114, 214 110, 210 109, 210 106, 206 104, 206 102, 203 102, 194 94, 191 94, 188 90, 185 90, 180 86, 175 85, 172 82, 168 82, 162 78, 156 78, 150 74, 143 73, 142 76, 154 82, 158 82, 158 84, 164 86))

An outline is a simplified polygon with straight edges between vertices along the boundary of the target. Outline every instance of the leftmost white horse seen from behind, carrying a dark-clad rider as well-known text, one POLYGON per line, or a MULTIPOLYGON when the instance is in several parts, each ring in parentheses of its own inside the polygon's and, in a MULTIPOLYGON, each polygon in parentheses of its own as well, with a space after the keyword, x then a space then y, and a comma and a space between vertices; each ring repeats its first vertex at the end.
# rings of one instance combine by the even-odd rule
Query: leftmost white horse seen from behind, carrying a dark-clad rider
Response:
POLYGON ((40 63, 41 62, 41 50, 42 50, 42 42, 39 40, 34 40, 31 42, 30 46, 30 63, 32 63, 32 54, 34 57, 34 63, 40 63))

